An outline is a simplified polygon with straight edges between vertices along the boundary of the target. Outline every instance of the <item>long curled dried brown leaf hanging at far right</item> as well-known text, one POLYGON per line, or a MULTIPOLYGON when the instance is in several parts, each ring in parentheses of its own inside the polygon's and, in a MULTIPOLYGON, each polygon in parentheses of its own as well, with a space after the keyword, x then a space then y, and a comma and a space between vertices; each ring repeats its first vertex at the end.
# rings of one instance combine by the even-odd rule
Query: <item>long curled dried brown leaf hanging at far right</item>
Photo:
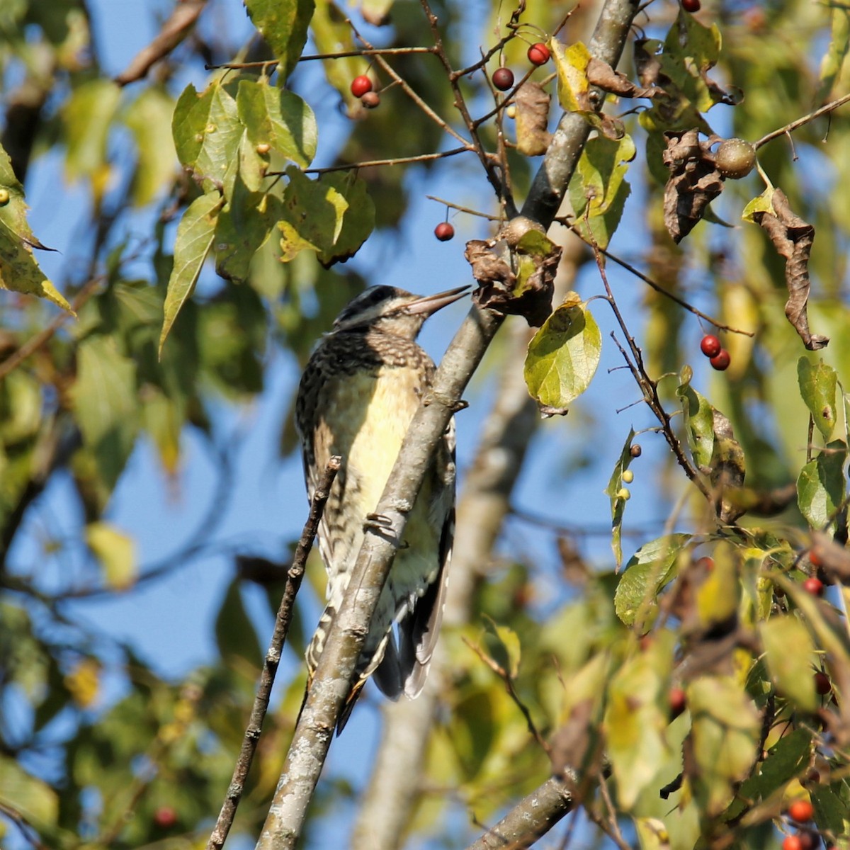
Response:
POLYGON ((814 227, 791 211, 788 198, 781 189, 771 197, 774 212, 754 212, 753 220, 774 243, 776 252, 785 257, 785 285, 788 300, 785 315, 809 351, 825 348, 829 337, 813 334, 808 329, 808 293, 812 287, 808 277, 808 258, 812 252, 814 227))

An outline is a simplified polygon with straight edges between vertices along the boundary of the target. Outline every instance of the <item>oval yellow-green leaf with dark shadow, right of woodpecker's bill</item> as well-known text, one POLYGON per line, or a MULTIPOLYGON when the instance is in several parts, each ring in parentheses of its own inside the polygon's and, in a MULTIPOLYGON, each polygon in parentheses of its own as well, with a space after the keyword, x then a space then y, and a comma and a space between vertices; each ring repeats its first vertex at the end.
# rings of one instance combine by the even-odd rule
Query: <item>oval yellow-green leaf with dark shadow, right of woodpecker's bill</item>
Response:
POLYGON ((524 377, 530 394, 549 411, 565 412, 590 386, 601 351, 602 334, 587 302, 568 293, 529 343, 524 377))

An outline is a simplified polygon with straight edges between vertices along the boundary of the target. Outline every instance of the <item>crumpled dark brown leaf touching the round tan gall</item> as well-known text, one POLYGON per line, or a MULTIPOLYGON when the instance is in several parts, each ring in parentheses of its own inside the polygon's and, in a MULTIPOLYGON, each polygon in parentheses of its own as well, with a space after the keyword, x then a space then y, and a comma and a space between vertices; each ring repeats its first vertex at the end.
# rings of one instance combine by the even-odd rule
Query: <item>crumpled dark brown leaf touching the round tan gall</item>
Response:
POLYGON ((698 130, 665 133, 664 164, 670 179, 664 188, 664 224, 674 242, 680 242, 706 214, 706 207, 723 191, 711 145, 719 137, 700 141, 698 130))

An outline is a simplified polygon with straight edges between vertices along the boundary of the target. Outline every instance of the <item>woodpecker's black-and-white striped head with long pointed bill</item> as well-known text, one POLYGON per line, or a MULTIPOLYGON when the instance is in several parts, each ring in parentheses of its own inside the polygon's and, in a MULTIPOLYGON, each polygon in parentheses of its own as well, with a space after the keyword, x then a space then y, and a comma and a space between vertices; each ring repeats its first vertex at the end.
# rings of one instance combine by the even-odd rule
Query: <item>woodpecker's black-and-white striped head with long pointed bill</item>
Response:
POLYGON ((436 295, 413 295, 395 286, 370 286, 348 302, 333 323, 333 332, 374 328, 397 337, 416 339, 429 315, 456 301, 469 289, 458 286, 436 295))

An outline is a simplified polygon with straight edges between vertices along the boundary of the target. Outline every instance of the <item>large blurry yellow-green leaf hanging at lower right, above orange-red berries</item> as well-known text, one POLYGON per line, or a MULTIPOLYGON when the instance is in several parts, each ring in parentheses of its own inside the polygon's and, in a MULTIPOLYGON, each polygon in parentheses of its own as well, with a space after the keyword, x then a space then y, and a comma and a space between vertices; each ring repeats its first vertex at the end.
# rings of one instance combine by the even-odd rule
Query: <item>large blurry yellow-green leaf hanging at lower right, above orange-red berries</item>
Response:
POLYGON ((707 815, 717 815, 757 759, 761 718, 734 677, 694 679, 688 686, 688 706, 694 793, 707 815))

